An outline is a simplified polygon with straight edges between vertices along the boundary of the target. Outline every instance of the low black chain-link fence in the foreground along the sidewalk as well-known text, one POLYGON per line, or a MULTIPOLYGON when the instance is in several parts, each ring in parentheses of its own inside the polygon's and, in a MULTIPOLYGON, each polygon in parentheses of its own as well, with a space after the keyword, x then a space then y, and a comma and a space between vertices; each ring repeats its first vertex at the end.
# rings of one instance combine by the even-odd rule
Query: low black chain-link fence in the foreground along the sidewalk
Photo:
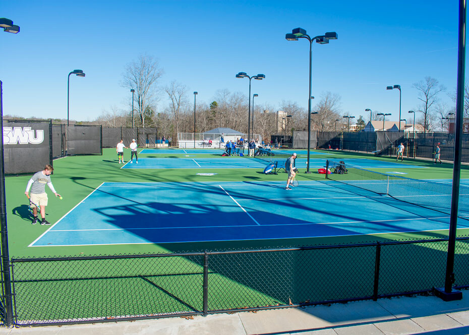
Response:
MULTIPOLYGON (((12 258, 14 322, 26 326, 188 317, 423 294, 444 284, 447 244, 448 239, 433 238, 12 258)), ((467 287, 469 237, 464 236, 456 243, 455 288, 467 287)))

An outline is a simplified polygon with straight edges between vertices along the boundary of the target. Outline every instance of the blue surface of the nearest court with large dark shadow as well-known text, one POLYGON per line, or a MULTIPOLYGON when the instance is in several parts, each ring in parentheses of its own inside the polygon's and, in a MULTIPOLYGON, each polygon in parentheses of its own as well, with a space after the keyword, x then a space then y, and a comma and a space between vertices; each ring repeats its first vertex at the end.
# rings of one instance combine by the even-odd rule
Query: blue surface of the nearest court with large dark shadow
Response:
MULTIPOLYGON (((30 246, 307 238, 446 230, 449 215, 334 181, 103 183, 30 246)), ((429 195, 434 196, 434 195, 429 195)), ((459 228, 469 220, 458 219, 459 228)))

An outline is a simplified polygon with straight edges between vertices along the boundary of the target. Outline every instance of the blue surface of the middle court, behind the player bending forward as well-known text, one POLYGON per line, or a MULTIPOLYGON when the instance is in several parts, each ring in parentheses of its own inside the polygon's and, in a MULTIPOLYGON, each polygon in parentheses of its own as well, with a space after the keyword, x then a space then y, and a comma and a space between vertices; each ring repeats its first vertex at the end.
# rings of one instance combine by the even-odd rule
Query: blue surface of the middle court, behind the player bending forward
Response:
MULTIPOLYGON (((272 161, 278 160, 282 165, 285 157, 272 156, 272 161)), ((263 159, 269 159, 263 156, 263 159)), ((264 168, 268 161, 259 158, 248 157, 219 157, 219 158, 139 158, 138 164, 127 162, 121 169, 260 169, 264 168)), ((390 162, 376 159, 366 158, 349 158, 343 159, 346 164, 353 164, 357 167, 364 168, 383 168, 383 169, 414 169, 423 166, 402 164, 398 162, 390 162)), ((299 156, 296 159, 296 166, 306 168, 306 158, 299 156)), ((325 167, 326 159, 310 158, 310 169, 318 169, 325 167)))

